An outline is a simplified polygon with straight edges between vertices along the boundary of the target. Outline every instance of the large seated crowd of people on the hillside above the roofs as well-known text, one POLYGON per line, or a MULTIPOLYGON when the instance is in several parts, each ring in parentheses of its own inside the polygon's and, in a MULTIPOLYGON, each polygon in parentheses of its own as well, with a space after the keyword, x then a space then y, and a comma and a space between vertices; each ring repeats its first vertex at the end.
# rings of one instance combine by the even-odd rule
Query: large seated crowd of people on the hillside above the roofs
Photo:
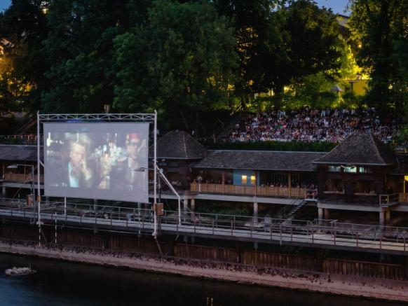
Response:
POLYGON ((381 120, 374 108, 312 109, 248 113, 236 123, 229 141, 342 141, 350 134, 372 132, 392 141, 402 122, 395 116, 381 120))

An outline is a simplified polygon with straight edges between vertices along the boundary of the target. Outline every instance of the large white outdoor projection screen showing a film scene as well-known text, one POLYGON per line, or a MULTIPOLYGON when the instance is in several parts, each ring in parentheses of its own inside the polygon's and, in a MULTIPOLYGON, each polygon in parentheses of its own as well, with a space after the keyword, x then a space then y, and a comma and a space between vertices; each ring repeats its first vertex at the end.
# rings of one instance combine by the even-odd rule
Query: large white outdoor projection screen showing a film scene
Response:
POLYGON ((149 123, 44 123, 44 195, 149 202, 149 123))

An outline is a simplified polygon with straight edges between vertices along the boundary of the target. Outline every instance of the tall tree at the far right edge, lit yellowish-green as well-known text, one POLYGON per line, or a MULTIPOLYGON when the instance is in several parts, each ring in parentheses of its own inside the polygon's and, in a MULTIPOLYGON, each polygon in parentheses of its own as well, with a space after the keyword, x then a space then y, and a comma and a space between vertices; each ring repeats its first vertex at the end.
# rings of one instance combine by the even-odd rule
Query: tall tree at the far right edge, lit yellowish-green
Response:
POLYGON ((407 102, 407 0, 351 0, 358 64, 369 74, 366 99, 383 115, 407 102))

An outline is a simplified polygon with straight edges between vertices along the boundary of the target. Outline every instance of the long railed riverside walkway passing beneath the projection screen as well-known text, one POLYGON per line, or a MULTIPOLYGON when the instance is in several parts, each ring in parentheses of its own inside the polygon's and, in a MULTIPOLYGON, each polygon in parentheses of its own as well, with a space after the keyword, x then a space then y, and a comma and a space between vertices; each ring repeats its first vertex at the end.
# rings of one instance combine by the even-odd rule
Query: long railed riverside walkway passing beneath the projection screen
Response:
MULTIPOLYGON (((34 209, 15 200, 0 199, 2 218, 35 224, 38 214, 34 209)), ((64 207, 62 202, 50 202, 41 206, 41 223, 111 232, 154 232, 153 211, 132 207, 78 203, 67 203, 64 207)), ((287 221, 191 211, 179 216, 177 211, 164 211, 158 218, 158 233, 399 255, 407 255, 408 251, 408 228, 335 220, 287 221)))

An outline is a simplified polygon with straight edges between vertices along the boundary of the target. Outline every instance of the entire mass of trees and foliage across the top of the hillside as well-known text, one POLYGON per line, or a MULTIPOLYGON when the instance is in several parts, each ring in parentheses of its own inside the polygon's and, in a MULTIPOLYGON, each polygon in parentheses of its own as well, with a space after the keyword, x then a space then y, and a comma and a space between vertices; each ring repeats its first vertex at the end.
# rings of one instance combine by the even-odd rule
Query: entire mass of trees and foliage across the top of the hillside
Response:
POLYGON ((369 103, 402 107, 407 0, 351 8, 352 43, 312 0, 13 0, 0 15, 0 111, 157 109, 162 128, 211 134, 203 113, 256 94, 275 109, 363 103, 330 92, 355 75, 355 53, 369 103))

